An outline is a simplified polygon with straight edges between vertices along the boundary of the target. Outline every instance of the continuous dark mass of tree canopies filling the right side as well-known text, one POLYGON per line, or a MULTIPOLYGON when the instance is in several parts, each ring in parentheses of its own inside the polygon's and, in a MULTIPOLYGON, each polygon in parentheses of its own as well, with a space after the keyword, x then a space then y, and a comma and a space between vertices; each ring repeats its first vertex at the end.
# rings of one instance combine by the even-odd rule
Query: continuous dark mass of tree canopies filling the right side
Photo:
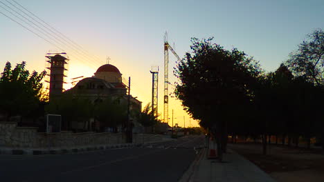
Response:
POLYGON ((192 51, 174 68, 179 79, 175 95, 188 114, 218 138, 227 139, 227 133, 233 138, 262 136, 264 154, 273 135, 277 141, 282 136, 283 143, 287 136, 288 143, 303 136, 309 146, 311 137, 324 139, 323 31, 309 37, 269 73, 236 48, 192 39, 192 51))

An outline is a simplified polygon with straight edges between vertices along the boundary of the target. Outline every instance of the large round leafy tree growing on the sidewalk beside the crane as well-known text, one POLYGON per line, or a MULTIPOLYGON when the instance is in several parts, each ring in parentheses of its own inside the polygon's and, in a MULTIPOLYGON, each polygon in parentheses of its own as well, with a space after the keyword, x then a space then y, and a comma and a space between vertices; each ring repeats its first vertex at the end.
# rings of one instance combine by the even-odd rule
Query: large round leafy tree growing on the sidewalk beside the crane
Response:
POLYGON ((225 50, 211 41, 192 39, 192 52, 174 68, 180 81, 175 83, 175 95, 184 109, 216 136, 221 155, 226 151, 226 125, 237 119, 233 112, 253 98, 253 87, 262 70, 244 52, 225 50))

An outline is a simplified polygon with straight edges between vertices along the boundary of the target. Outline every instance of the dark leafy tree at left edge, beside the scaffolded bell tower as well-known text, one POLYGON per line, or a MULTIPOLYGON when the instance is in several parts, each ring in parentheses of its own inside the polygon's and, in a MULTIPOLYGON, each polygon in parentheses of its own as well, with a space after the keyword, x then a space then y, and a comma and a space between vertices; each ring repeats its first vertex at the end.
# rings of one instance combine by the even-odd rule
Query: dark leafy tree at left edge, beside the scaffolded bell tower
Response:
POLYGON ((37 110, 42 98, 42 79, 46 72, 32 74, 26 70, 26 62, 18 63, 12 70, 7 62, 0 77, 0 112, 6 116, 27 116, 37 110))

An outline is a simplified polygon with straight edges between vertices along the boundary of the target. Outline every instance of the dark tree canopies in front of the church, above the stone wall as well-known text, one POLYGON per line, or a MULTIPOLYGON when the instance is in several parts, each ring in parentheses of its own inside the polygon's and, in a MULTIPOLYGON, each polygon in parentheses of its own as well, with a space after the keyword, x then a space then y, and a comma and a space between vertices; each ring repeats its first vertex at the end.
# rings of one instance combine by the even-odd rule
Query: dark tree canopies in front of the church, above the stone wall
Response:
POLYGON ((51 101, 46 106, 49 114, 61 114, 64 130, 70 130, 71 121, 83 123, 82 130, 88 130, 89 119, 93 118, 100 122, 100 127, 116 128, 127 120, 127 107, 118 99, 110 97, 93 101, 78 97, 71 93, 64 93, 60 99, 51 101), (87 125, 88 124, 88 125, 87 125))

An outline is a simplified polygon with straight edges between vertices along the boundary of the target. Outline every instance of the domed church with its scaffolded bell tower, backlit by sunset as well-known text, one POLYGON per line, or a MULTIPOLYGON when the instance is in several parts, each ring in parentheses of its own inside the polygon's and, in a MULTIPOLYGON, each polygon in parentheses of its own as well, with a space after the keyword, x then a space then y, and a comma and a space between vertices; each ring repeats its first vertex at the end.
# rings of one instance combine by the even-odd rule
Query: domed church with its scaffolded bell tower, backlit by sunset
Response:
MULTIPOLYGON (((127 105, 128 93, 127 85, 123 83, 122 74, 116 66, 111 64, 101 65, 93 77, 84 78, 75 86, 69 90, 63 92, 62 85, 64 83, 64 65, 66 62, 66 57, 64 55, 56 54, 55 56, 48 56, 48 62, 51 63, 51 74, 50 74, 50 90, 49 96, 50 101, 55 98, 60 98, 62 94, 72 94, 78 98, 88 99, 92 103, 98 103, 105 101, 105 99, 118 99, 120 104, 127 105)), ((131 112, 140 113, 141 112, 141 101, 138 101, 136 97, 130 96, 129 108, 131 112)), ((141 125, 136 122, 136 117, 130 118, 134 128, 134 132, 141 132, 141 125)), ((77 121, 72 121, 71 128, 73 130, 84 129, 84 125, 87 125, 87 130, 102 130, 100 123, 95 121, 95 119, 90 119, 89 124, 78 123, 77 121), (95 128, 93 128, 93 126, 95 128)), ((109 130, 109 128, 105 128, 109 130)), ((118 126, 118 130, 121 130, 121 126, 118 126)))

